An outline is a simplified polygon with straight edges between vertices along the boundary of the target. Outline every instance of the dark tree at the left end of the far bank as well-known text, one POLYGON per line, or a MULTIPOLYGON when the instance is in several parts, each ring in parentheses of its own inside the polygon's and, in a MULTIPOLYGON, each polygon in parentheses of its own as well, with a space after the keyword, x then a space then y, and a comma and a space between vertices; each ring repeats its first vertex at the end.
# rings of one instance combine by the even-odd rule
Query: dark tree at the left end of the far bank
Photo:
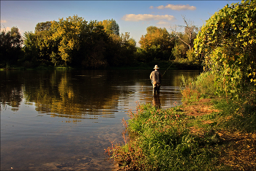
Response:
POLYGON ((11 31, 3 30, 0 34, 0 64, 2 66, 17 64, 22 55, 21 45, 23 39, 17 27, 12 27, 11 31))

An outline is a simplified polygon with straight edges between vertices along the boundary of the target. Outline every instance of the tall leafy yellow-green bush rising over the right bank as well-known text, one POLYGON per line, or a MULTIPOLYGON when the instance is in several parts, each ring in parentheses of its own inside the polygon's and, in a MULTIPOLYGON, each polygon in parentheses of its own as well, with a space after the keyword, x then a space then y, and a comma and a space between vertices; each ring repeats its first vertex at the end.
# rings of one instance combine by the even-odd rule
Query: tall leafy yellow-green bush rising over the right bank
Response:
POLYGON ((238 97, 256 86, 255 1, 226 5, 215 12, 195 39, 195 51, 205 69, 217 73, 218 92, 238 97))

